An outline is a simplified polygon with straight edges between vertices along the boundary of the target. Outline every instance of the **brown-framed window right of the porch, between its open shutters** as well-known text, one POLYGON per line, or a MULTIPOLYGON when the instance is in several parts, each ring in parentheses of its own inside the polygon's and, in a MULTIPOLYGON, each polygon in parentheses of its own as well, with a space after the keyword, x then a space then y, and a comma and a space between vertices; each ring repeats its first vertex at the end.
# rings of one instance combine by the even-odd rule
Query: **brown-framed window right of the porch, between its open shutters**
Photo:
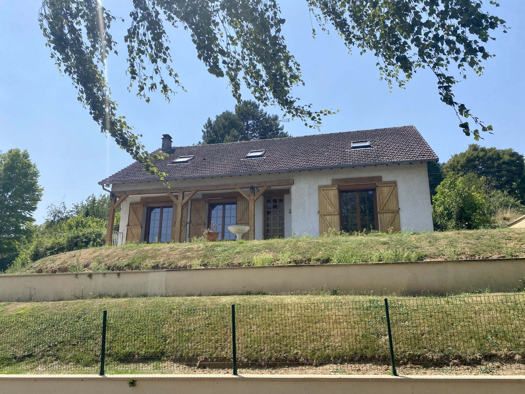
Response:
POLYGON ((375 190, 341 192, 341 230, 348 233, 377 230, 377 203, 375 194, 375 190))

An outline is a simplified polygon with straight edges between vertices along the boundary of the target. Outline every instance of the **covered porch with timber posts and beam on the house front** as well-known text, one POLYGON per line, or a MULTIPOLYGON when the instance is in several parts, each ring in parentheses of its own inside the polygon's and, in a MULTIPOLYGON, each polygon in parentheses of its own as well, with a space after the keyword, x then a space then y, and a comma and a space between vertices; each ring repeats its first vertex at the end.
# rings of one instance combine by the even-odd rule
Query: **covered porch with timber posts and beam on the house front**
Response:
POLYGON ((202 236, 211 222, 220 226, 220 239, 231 239, 227 226, 238 224, 250 227, 243 239, 254 240, 255 205, 261 197, 268 200, 265 201, 267 206, 271 205, 263 212, 264 239, 284 237, 284 196, 290 193, 286 186, 291 185, 293 180, 278 180, 111 192, 106 245, 185 242, 202 236), (128 217, 121 217, 121 220, 127 220, 125 231, 113 232, 115 211, 132 197, 134 200, 140 198, 140 201, 131 202, 128 217))

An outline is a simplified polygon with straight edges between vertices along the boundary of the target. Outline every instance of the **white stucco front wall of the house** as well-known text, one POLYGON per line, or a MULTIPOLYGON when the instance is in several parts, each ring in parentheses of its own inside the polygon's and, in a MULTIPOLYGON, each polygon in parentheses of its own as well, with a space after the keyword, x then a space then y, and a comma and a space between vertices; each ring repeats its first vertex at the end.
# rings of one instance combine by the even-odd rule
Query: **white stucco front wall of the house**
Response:
MULTIPOLYGON (((285 236, 292 233, 319 236, 319 201, 318 185, 328 185, 332 179, 355 177, 383 177, 383 181, 397 181, 397 194, 400 207, 400 222, 403 231, 432 231, 432 210, 428 187, 427 164, 390 164, 345 169, 324 169, 312 171, 281 172, 260 175, 242 175, 235 177, 198 178, 174 181, 171 188, 204 186, 231 183, 249 183, 271 180, 292 179, 290 194, 285 195, 285 236), (291 213, 289 211, 291 210, 291 213)), ((113 191, 165 189, 164 182, 129 182, 114 184, 113 191)), ((280 189, 273 188, 273 189, 280 189)), ((202 198, 197 193, 194 198, 202 198)), ((129 197, 122 204, 120 231, 126 233, 128 224, 129 203, 140 201, 140 196, 129 197)), ((264 223, 264 201, 262 198, 255 204, 255 237, 262 239, 264 223)), ((189 221, 188 210, 188 221, 189 221)), ((206 212, 207 215, 207 212, 206 212)))

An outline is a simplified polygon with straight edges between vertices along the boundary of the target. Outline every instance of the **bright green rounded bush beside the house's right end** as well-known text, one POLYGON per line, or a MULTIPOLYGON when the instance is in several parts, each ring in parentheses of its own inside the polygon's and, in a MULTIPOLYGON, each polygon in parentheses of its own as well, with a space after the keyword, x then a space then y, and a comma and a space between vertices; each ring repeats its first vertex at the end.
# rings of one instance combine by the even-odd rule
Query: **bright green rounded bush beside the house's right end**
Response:
POLYGON ((484 193, 480 192, 484 181, 472 182, 450 172, 437 186, 432 198, 436 230, 472 230, 491 224, 484 193))

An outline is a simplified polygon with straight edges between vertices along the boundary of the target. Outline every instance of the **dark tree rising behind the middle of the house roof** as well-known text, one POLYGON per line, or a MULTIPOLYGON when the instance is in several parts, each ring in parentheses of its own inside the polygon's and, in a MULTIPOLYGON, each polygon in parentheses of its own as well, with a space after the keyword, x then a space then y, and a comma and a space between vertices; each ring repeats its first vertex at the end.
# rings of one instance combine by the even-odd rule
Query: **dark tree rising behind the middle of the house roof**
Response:
POLYGON ((202 130, 203 143, 249 141, 289 137, 283 132, 277 115, 268 115, 258 102, 245 100, 235 106, 235 113, 224 111, 214 120, 208 118, 202 130))

